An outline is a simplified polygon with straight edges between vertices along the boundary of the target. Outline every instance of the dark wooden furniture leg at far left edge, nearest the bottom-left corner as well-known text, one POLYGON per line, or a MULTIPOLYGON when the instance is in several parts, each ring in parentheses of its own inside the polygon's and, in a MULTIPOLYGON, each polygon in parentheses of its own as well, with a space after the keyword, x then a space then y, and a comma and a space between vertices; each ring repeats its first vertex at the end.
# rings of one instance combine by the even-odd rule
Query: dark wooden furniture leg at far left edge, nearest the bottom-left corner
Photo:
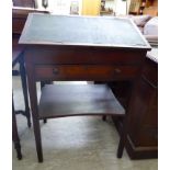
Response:
POLYGON ((21 160, 22 159, 22 154, 21 154, 20 138, 19 138, 19 134, 18 134, 18 126, 16 126, 14 104, 13 104, 13 97, 12 97, 12 140, 14 143, 14 148, 16 150, 18 159, 21 160))

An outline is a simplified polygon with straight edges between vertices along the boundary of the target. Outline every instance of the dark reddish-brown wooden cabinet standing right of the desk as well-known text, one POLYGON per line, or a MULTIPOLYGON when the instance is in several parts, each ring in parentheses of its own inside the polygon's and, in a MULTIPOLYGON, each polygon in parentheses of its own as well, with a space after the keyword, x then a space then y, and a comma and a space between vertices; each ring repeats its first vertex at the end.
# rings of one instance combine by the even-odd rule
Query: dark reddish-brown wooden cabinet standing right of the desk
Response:
MULTIPOLYGON (((114 86, 113 92, 117 99, 127 103, 129 88, 123 81, 114 86), (124 93, 121 93, 124 91, 124 93), (123 100, 122 100, 123 99, 123 100)), ((158 63, 145 58, 143 73, 136 87, 128 115, 128 140, 126 149, 132 159, 146 159, 158 157, 158 63)), ((122 103, 123 104, 123 103, 122 103)), ((124 104, 123 104, 124 105, 124 104)), ((124 105, 127 109, 127 105, 124 105)), ((116 125, 118 125, 116 123, 116 125)), ((117 126, 121 128, 121 124, 117 126)))

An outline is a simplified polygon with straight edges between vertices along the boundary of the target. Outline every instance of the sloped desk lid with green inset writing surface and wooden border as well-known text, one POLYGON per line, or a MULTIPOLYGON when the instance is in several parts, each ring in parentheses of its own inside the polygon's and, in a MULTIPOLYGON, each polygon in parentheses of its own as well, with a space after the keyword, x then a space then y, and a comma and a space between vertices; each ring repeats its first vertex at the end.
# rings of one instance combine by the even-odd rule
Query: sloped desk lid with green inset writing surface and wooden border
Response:
POLYGON ((132 20, 114 16, 30 13, 19 43, 150 49, 132 20))

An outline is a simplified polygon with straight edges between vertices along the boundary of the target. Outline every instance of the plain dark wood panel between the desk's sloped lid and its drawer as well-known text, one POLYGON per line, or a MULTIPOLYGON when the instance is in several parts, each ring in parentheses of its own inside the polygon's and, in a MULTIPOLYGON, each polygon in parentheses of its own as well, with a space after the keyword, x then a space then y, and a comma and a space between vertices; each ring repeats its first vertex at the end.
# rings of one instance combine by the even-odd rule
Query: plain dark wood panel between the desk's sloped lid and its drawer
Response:
MULTIPOLYGON (((22 44, 22 46, 25 46, 22 44)), ((26 45, 34 64, 83 64, 83 65, 140 65, 144 61, 144 49, 115 49, 89 46, 46 46, 26 45), (124 55, 126 54, 126 55, 124 55)))

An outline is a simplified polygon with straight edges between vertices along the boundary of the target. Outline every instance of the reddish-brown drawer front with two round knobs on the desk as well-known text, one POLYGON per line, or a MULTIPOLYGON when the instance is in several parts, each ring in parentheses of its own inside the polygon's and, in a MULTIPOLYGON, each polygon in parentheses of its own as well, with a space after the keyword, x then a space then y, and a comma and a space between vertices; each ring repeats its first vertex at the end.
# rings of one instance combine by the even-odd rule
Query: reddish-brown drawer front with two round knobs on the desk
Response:
POLYGON ((36 65, 36 80, 114 80, 133 79, 135 66, 36 65))

